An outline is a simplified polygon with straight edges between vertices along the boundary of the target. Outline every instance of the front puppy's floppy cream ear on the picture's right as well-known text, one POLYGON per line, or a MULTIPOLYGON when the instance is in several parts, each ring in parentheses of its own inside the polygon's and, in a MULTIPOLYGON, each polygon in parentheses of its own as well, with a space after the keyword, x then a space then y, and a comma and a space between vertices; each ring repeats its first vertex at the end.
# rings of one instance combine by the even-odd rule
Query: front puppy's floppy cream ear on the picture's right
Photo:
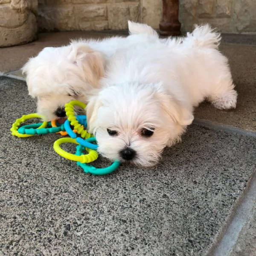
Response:
POLYGON ((192 110, 184 102, 175 100, 172 96, 163 91, 157 92, 160 99, 161 108, 168 118, 177 122, 181 126, 191 125, 194 116, 192 110))

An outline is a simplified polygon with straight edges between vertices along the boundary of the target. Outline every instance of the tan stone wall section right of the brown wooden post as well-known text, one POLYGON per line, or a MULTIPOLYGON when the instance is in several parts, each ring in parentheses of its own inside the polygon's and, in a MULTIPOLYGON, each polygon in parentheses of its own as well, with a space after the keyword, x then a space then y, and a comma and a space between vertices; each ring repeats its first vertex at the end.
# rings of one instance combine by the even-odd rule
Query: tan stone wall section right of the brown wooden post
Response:
POLYGON ((210 23, 221 32, 256 32, 256 0, 180 0, 182 29, 210 23))

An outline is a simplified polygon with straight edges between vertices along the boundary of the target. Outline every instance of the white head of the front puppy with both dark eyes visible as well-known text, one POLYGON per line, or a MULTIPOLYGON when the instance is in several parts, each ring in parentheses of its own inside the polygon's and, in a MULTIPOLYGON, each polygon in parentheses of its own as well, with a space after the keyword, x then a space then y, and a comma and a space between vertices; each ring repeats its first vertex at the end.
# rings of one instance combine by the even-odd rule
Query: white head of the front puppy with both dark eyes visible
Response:
POLYGON ((88 131, 111 160, 143 166, 157 163, 166 145, 180 139, 192 113, 161 91, 160 84, 105 87, 87 105, 88 131))

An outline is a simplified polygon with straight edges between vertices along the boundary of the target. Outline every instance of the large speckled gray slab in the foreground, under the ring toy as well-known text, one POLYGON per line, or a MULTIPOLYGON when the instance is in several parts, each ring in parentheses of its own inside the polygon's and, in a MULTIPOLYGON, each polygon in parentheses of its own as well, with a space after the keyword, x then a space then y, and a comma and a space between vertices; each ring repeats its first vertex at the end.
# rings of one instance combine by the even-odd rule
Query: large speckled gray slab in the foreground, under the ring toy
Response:
POLYGON ((87 175, 58 135, 12 137, 25 82, 0 78, 0 109, 0 255, 207 255, 255 172, 255 138, 192 125, 155 167, 87 175))

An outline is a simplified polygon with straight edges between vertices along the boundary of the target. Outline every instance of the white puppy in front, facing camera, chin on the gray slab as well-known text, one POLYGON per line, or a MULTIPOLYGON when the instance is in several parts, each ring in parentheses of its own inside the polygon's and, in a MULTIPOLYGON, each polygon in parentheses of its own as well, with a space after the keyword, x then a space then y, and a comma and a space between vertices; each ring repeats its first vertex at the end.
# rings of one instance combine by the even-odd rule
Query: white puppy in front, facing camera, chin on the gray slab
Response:
MULTIPOLYGON (((151 29, 129 26, 134 33, 151 29)), ((147 44, 116 51, 87 106, 99 153, 143 166, 180 140, 204 99, 229 109, 237 98, 227 58, 218 51, 220 35, 208 25, 181 40, 160 40, 153 29, 147 34, 147 44)))

